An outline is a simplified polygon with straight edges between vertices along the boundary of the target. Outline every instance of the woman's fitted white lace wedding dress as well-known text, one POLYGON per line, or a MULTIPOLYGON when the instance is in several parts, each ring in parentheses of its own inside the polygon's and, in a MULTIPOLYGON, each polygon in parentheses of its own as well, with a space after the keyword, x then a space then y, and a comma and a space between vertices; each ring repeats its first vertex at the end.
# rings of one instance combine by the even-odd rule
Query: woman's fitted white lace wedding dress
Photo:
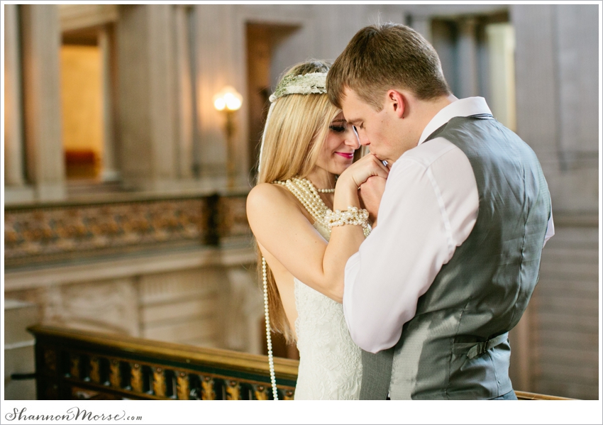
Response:
MULTIPOLYGON (((322 223, 314 223, 328 241, 322 223)), ((294 399, 352 399, 360 397, 360 348, 350 337, 343 306, 320 292, 295 282, 299 372, 294 399)))

